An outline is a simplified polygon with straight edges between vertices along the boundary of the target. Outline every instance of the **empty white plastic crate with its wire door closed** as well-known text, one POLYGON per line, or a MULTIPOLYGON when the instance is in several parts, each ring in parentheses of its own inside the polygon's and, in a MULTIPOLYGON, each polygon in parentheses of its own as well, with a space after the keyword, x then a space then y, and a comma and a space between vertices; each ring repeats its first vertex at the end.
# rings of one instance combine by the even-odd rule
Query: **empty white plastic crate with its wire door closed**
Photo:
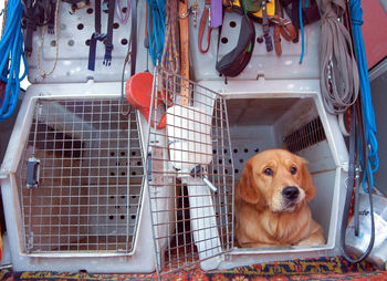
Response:
POLYGON ((29 87, 1 167, 14 270, 155 270, 142 126, 119 91, 29 87))

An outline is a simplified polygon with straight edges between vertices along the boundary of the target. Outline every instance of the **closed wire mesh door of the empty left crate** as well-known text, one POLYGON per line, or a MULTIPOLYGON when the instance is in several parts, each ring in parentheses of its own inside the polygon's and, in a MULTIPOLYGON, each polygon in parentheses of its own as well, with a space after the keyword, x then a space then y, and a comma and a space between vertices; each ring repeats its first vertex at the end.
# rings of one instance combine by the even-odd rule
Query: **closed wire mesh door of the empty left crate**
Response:
POLYGON ((25 252, 130 252, 143 164, 136 114, 119 98, 38 98, 19 164, 25 252))

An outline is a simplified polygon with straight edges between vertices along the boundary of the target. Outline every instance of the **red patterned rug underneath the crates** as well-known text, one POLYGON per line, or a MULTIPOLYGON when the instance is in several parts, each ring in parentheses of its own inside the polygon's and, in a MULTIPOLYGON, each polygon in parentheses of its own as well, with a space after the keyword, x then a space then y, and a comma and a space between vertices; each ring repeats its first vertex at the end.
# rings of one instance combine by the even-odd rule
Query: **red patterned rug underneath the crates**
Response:
MULTIPOLYGON (((69 272, 2 272, 0 280, 158 280, 151 274, 92 274, 69 272)), ((259 263, 231 270, 203 272, 199 266, 164 274, 161 280, 387 280, 387 271, 373 270, 369 263, 352 263, 343 257, 300 259, 259 263)))

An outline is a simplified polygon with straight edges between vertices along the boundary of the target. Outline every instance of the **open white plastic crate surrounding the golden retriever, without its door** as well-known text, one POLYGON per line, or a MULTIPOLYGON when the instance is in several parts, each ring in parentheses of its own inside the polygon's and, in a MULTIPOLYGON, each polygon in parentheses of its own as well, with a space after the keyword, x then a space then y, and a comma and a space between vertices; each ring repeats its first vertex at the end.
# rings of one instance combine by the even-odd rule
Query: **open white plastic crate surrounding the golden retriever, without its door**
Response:
POLYGON ((236 180, 244 163, 268 148, 287 148, 308 160, 316 186, 310 204, 313 218, 323 227, 326 244, 242 249, 234 244, 216 268, 258 262, 341 254, 339 230, 347 178, 347 149, 337 119, 326 114, 318 81, 251 81, 203 83, 227 98, 236 180), (242 86, 243 85, 243 86, 242 86), (291 91, 283 91, 291 85, 291 91), (305 87, 305 85, 307 85, 305 87), (283 86, 283 87, 281 87, 283 86), (236 89, 243 89, 236 91, 236 89))

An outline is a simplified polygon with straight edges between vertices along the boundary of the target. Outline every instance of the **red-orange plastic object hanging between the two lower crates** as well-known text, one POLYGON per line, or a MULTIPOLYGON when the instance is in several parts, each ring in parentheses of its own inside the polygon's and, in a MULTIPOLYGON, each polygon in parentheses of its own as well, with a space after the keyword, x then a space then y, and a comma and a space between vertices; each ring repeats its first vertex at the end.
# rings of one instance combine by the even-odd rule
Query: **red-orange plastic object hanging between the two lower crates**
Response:
MULTIPOLYGON (((128 102, 140 111, 144 117, 149 122, 149 108, 151 103, 151 89, 153 89, 154 75, 150 72, 139 72, 133 75, 126 82, 126 98, 128 102)), ((157 97, 155 97, 155 107, 159 104, 165 104, 165 96, 160 92, 157 92, 157 97)), ((160 129, 166 126, 167 115, 164 114, 160 122, 156 128, 160 129)), ((154 122, 150 123, 155 127, 154 122)))

